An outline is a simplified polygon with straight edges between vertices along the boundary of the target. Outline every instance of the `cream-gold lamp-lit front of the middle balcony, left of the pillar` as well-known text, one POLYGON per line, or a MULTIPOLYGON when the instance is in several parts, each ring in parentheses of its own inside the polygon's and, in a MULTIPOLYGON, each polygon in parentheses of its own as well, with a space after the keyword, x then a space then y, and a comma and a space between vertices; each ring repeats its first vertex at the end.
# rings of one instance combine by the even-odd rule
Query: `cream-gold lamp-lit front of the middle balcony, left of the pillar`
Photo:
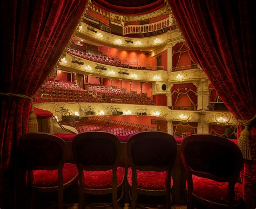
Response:
POLYGON ((149 82, 154 82, 154 81, 166 82, 168 78, 167 71, 136 70, 136 69, 116 67, 112 65, 104 65, 104 64, 99 64, 98 62, 93 62, 90 60, 79 58, 69 53, 66 53, 65 60, 66 60, 66 63, 59 62, 60 69, 63 69, 69 72, 80 73, 80 74, 87 74, 87 75, 92 74, 95 76, 100 76, 101 78, 129 79, 129 80, 149 81, 149 82), (72 63, 71 61, 73 57, 75 57, 76 60, 80 59, 80 61, 84 62, 84 65, 78 65, 76 63, 72 63), (88 67, 88 65, 90 67, 88 67), (95 69, 97 65, 104 66, 106 68, 106 71, 103 71, 102 69, 95 69), (118 72, 120 71, 125 71, 129 73, 129 75, 119 74, 118 72), (134 74, 136 74, 137 76, 134 76, 134 74))

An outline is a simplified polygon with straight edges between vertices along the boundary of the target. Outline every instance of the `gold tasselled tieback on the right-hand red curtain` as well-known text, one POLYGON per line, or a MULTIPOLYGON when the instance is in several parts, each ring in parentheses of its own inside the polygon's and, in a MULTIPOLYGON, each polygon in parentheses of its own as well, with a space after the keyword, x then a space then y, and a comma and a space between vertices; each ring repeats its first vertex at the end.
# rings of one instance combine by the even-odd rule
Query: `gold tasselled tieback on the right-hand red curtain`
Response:
POLYGON ((254 121, 254 119, 256 119, 256 114, 250 120, 238 120, 238 124, 245 127, 244 130, 241 131, 238 138, 238 147, 240 148, 244 159, 249 160, 252 160, 249 126, 254 121))

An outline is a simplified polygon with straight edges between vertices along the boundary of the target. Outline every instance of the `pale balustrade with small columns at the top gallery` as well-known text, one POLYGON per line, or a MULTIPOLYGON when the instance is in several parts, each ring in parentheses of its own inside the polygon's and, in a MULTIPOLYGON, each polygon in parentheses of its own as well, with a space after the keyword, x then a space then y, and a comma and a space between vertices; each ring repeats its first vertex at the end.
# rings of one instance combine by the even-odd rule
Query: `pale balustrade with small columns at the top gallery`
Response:
POLYGON ((169 17, 166 19, 160 20, 156 23, 150 23, 145 25, 127 25, 127 26, 124 26, 123 35, 129 34, 129 33, 152 32, 159 29, 163 29, 164 27, 169 25, 170 25, 169 17))

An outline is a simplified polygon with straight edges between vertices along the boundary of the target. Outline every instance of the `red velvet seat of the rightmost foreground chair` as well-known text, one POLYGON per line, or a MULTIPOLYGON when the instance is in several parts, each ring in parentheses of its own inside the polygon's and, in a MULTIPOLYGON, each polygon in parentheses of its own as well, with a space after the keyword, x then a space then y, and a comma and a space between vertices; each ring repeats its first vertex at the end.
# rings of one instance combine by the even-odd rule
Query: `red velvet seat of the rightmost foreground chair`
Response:
MULTIPOLYGON (((215 182, 214 180, 192 176, 193 194, 198 198, 212 201, 218 204, 227 204, 227 184, 226 182, 215 182)), ((242 201, 242 184, 235 184, 235 205, 242 201)))

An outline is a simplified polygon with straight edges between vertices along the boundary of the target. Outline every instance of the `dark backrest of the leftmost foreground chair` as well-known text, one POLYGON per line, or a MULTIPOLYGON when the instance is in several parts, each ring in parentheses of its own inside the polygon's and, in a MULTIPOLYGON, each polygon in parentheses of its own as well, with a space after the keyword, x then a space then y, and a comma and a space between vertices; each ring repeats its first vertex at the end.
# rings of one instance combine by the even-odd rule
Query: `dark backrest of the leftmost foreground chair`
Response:
POLYGON ((20 138, 26 168, 30 170, 62 169, 65 161, 66 143, 48 133, 28 133, 20 138))

